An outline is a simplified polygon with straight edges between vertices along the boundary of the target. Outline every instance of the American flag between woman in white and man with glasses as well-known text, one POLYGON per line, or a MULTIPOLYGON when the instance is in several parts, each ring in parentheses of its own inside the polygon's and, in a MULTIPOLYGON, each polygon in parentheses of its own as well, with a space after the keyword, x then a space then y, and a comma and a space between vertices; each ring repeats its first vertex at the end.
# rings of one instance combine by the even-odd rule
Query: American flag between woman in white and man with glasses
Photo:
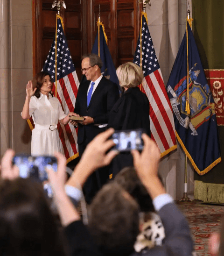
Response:
MULTIPOLYGON (((61 102, 65 114, 74 111, 79 80, 71 59, 67 40, 64 36, 63 22, 57 16, 56 40, 53 41, 43 71, 49 72, 52 79, 52 91, 61 102), (57 62, 56 62, 57 59, 57 62), (57 86, 56 86, 57 81, 57 86)), ((78 156, 77 130, 68 123, 57 125, 67 162, 78 156)))

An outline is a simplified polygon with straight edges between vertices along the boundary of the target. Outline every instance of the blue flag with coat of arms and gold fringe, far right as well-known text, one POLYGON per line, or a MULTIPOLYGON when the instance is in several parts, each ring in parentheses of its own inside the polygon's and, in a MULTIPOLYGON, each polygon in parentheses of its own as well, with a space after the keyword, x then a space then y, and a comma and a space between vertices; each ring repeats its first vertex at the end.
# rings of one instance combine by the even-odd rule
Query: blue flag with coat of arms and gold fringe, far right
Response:
POLYGON ((221 157, 214 100, 189 23, 166 89, 176 137, 197 173, 203 175, 221 162, 221 157))

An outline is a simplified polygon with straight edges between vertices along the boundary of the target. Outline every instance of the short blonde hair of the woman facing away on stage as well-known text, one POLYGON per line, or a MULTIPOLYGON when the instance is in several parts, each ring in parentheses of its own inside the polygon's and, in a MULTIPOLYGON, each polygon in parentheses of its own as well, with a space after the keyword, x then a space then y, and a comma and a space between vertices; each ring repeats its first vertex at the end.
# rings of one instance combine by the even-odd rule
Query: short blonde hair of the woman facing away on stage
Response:
POLYGON ((136 87, 144 78, 141 68, 132 62, 120 65, 117 68, 117 76, 121 87, 136 87))

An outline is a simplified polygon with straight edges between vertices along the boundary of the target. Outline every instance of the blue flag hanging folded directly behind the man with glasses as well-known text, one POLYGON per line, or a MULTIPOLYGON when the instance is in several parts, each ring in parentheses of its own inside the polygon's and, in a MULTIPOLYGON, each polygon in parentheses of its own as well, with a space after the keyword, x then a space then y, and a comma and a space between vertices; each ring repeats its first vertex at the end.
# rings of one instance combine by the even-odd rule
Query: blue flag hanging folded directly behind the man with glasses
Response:
POLYGON ((91 53, 95 53, 101 58, 103 62, 101 73, 105 76, 105 78, 108 78, 117 84, 120 91, 116 69, 112 61, 110 50, 107 46, 107 38, 105 37, 104 25, 98 21, 98 33, 96 35, 91 53))

